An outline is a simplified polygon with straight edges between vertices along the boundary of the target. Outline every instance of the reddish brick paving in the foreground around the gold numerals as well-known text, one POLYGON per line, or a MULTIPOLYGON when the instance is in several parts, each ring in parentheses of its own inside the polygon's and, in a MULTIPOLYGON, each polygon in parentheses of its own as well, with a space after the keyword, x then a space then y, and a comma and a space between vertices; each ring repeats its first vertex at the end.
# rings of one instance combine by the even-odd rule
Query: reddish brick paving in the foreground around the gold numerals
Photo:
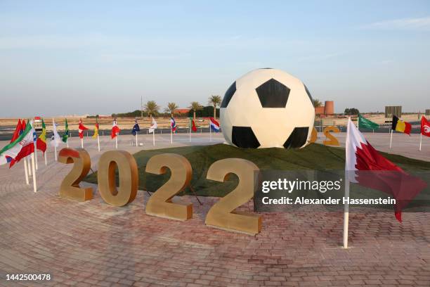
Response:
POLYGON ((261 234, 247 236, 204 225, 216 198, 201 206, 188 197, 187 222, 145 215, 143 191, 124 208, 97 192, 85 203, 59 198, 70 166, 51 156, 36 194, 21 163, 0 169, 0 286, 430 286, 428 214, 406 213, 403 224, 391 213, 351 214, 348 250, 336 213, 264 214, 261 234), (53 280, 6 282, 11 273, 53 280))

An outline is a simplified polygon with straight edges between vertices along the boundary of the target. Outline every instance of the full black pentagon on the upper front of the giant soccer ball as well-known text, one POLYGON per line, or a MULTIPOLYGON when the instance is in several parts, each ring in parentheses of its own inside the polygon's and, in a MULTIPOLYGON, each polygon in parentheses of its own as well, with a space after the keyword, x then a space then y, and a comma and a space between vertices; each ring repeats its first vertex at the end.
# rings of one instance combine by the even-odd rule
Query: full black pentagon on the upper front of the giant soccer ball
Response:
POLYGON ((275 79, 269 79, 256 89, 263 108, 285 108, 289 96, 289 88, 275 79))

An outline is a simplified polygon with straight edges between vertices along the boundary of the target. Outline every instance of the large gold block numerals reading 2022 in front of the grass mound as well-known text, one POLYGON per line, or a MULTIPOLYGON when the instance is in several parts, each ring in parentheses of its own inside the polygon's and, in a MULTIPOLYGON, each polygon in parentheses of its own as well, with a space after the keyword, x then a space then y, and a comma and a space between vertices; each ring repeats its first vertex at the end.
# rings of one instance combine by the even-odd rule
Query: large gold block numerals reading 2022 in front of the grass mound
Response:
MULTIPOLYGON (((73 163, 72 170, 60 185, 60 196, 74 200, 91 200, 92 188, 82 188, 80 181, 86 177, 91 167, 91 159, 84 149, 63 148, 58 160, 73 163)), ((171 171, 169 180, 152 194, 145 207, 148 215, 177 220, 193 217, 193 203, 186 203, 174 196, 187 186, 193 177, 190 162, 182 155, 162 153, 154 155, 146 165, 145 172, 164 174, 171 171)), ((254 174, 259 168, 249 160, 226 158, 214 162, 207 172, 207 179, 225 181, 230 174, 236 174, 239 184, 236 189, 221 198, 207 212, 205 223, 212 227, 258 234, 261 231, 261 215, 235 212, 235 209, 254 197, 256 183, 254 174)), ((131 203, 138 190, 138 167, 133 156, 126 151, 107 151, 98 160, 98 191, 106 203, 124 206, 131 203), (115 180, 115 170, 119 172, 119 182, 115 180), (117 187, 118 186, 118 187, 117 187)))

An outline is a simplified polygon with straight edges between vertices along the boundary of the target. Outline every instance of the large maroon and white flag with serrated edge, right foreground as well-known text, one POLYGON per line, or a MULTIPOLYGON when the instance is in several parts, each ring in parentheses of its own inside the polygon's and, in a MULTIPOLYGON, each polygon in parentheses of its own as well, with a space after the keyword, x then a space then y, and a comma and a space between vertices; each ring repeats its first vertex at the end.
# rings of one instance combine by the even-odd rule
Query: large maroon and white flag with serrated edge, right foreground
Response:
POLYGON ((396 199, 394 213, 401 222, 402 209, 426 187, 426 183, 380 155, 358 131, 351 118, 348 119, 345 149, 346 178, 361 186, 388 193, 396 199))

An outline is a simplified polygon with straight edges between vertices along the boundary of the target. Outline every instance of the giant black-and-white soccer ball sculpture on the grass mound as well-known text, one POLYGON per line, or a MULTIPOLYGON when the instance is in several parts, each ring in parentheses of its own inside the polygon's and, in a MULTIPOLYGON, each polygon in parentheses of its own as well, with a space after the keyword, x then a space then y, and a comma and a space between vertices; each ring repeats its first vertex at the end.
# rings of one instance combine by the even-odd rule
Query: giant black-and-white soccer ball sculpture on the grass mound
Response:
POLYGON ((240 148, 301 148, 311 136, 315 109, 300 79, 258 69, 237 79, 221 103, 221 128, 240 148))

